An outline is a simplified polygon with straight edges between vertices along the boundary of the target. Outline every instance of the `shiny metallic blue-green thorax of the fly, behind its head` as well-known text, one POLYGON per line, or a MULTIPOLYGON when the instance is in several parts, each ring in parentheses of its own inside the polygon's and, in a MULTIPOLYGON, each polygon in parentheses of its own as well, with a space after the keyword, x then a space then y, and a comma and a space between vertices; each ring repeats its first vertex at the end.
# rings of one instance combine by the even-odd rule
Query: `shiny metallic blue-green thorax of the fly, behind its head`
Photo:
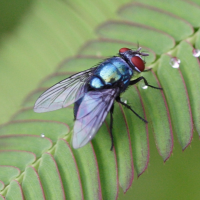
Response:
POLYGON ((94 89, 100 89, 119 83, 123 85, 123 90, 125 90, 132 75, 133 70, 122 58, 112 57, 97 67, 89 84, 94 89))

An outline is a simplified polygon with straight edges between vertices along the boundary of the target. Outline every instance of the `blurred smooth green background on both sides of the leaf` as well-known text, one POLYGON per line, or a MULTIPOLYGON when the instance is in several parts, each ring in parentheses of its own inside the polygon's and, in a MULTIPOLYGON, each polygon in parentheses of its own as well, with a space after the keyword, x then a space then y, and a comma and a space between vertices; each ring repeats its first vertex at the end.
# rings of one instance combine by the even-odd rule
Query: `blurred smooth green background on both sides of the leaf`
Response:
MULTIPOLYGON (((63 59, 96 38, 94 29, 100 23, 116 19, 117 9, 127 2, 1 0, 0 123, 7 122, 21 108, 24 98, 63 59)), ((166 163, 156 150, 153 135, 149 137, 149 167, 138 179, 135 176, 125 195, 120 189, 119 199, 200 199, 197 133, 184 152, 174 136, 173 155, 166 163)))

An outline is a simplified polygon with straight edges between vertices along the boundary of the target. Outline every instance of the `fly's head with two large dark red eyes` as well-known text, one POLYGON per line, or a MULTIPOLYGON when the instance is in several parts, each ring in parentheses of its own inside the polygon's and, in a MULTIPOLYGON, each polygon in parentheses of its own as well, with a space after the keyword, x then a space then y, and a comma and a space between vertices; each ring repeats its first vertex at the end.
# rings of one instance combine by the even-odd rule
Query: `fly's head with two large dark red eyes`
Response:
POLYGON ((136 51, 132 49, 123 47, 119 50, 119 55, 123 58, 129 66, 137 71, 142 72, 145 69, 145 61, 142 59, 142 56, 148 56, 149 54, 140 52, 141 47, 139 47, 136 51))

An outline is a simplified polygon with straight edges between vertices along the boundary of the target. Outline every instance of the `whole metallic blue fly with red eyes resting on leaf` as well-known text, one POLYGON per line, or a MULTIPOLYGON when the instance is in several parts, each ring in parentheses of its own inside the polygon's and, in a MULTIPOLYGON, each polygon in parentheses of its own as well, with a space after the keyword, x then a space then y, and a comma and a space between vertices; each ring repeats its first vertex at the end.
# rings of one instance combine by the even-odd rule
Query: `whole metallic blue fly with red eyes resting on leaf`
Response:
POLYGON ((104 60, 97 67, 74 74, 46 90, 36 101, 34 111, 49 112, 74 103, 72 145, 75 149, 92 140, 110 112, 112 150, 114 101, 124 105, 147 123, 129 105, 121 101, 120 94, 140 80, 143 80, 146 86, 162 89, 149 85, 143 76, 131 80, 135 73, 148 71, 144 70, 145 62, 142 59, 142 56, 148 55, 141 52, 141 47, 136 51, 121 48, 118 56, 104 60))

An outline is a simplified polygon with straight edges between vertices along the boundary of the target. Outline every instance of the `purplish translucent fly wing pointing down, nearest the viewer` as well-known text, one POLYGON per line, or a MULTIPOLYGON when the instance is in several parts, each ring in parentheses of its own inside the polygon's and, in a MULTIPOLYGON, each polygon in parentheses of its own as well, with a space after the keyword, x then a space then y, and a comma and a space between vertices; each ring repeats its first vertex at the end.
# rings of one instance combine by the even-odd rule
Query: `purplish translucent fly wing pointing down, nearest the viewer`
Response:
POLYGON ((87 144, 104 122, 116 96, 118 88, 90 91, 81 102, 74 124, 73 147, 87 144))

